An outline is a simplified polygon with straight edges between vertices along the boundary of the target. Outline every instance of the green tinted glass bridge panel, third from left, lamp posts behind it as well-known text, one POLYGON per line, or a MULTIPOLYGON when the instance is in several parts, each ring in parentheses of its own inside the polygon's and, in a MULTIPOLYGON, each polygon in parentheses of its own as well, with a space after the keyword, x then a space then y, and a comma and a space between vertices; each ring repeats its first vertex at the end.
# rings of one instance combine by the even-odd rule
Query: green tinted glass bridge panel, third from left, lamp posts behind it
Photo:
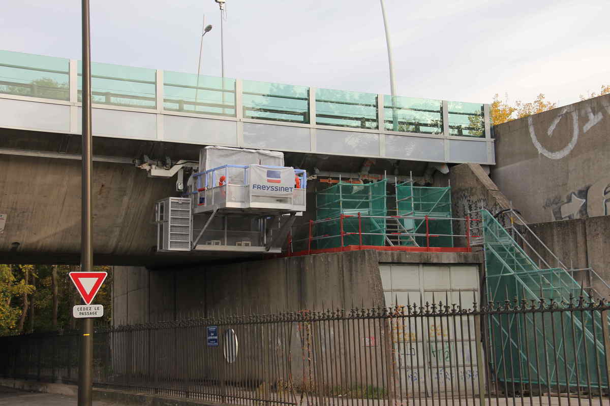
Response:
POLYGON ((163 71, 163 108, 235 117, 235 79, 163 71))

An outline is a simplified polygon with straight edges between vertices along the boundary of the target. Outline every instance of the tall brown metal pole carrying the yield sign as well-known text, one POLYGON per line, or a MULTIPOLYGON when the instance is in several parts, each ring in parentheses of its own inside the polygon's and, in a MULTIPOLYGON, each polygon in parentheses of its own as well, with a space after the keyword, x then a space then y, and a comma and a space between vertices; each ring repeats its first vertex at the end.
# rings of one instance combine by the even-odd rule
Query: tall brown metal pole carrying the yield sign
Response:
MULTIPOLYGON (((91 41, 89 0, 82 0, 82 212, 81 212, 81 270, 93 270, 91 245, 91 41)), ((93 318, 82 319, 81 349, 79 357, 78 406, 91 406, 93 391, 93 318)))

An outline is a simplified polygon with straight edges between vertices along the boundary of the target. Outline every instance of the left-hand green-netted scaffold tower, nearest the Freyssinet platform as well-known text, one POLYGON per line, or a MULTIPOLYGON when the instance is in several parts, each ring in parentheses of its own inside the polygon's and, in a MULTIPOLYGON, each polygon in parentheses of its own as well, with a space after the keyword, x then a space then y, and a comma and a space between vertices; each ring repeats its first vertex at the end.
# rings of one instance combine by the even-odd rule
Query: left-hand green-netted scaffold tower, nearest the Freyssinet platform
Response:
POLYGON ((317 192, 316 249, 346 245, 384 245, 387 181, 353 184, 344 181, 317 192), (379 216, 365 217, 361 216, 379 216), (367 233, 359 236, 359 233, 367 233), (360 241, 362 239, 362 241, 360 241))

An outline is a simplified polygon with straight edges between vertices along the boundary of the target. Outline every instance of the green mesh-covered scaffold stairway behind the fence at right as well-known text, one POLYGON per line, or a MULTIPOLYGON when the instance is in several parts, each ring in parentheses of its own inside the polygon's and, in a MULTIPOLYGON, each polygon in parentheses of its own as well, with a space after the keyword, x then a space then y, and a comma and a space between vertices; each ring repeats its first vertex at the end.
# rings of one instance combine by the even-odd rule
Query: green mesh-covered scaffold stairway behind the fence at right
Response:
POLYGON ((600 312, 536 312, 541 299, 569 307, 579 296, 590 301, 587 293, 563 268, 537 267, 488 211, 481 210, 481 219, 487 299, 523 309, 489 316, 492 374, 509 391, 608 388, 600 312))

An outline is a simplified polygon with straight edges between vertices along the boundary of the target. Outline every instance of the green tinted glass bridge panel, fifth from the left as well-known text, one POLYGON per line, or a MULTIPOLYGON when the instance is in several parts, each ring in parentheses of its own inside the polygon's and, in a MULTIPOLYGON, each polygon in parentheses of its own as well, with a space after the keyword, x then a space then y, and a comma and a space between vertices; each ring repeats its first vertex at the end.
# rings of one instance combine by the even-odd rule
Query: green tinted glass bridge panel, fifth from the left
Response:
POLYGON ((340 127, 378 128, 377 95, 317 89, 315 91, 315 122, 340 127))

